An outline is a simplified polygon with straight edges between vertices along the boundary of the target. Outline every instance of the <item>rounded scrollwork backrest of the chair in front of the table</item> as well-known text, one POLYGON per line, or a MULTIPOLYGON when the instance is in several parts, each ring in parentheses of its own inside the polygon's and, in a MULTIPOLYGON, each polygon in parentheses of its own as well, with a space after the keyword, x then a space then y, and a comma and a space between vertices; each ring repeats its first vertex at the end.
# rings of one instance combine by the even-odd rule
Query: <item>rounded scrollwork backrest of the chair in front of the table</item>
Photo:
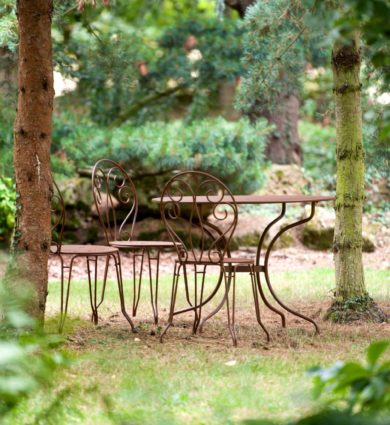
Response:
POLYGON ((160 211, 180 261, 219 264, 229 253, 238 208, 218 178, 202 171, 176 174, 162 191, 160 211))

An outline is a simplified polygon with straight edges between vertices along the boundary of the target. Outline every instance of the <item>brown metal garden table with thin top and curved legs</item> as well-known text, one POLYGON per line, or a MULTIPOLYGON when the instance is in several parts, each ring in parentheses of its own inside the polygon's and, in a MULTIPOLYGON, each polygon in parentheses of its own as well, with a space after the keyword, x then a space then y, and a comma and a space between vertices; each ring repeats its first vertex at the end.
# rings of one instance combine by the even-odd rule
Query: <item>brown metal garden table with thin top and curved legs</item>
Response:
MULTIPOLYGON (((229 198, 230 199, 230 198, 229 198)), ((229 203, 229 199, 226 200, 225 204, 229 203)), ((286 317, 284 315, 284 313, 282 311, 280 311, 279 309, 277 309, 276 307, 274 307, 266 298, 265 293, 263 291, 262 285, 261 285, 261 273, 264 273, 264 278, 267 284, 267 287, 272 295, 272 297, 274 298, 274 300, 279 304, 280 307, 282 307, 282 309, 286 310, 287 312, 301 318, 304 319, 310 323, 313 324, 316 333, 319 333, 319 328, 317 323, 303 315, 300 312, 297 312, 295 310, 293 310, 291 307, 287 306, 280 298, 279 296, 276 294, 273 286, 271 285, 271 280, 270 280, 270 276, 269 276, 269 268, 268 268, 268 264, 269 264, 269 258, 270 258, 270 254, 272 251, 273 246, 275 245, 275 243, 277 242, 277 240, 281 237, 281 235, 283 233, 285 233, 287 230, 292 229, 293 227, 299 226, 301 224, 307 223, 308 221, 310 221, 315 214, 315 206, 318 202, 325 202, 325 201, 334 201, 335 197, 334 196, 316 196, 316 195, 234 195, 234 199, 236 201, 237 204, 240 205, 245 205, 245 204, 251 204, 251 205, 267 205, 267 204, 280 204, 281 205, 281 211, 280 214, 273 219, 263 230, 263 232, 261 233, 260 239, 259 239, 259 243, 257 246, 257 252, 256 252, 256 262, 255 262, 255 272, 256 272, 256 280, 257 280, 257 286, 261 295, 261 298, 264 302, 264 304, 273 312, 275 312, 276 314, 278 314, 281 317, 281 321, 282 321, 282 326, 286 327, 286 317), (300 219, 298 221, 295 221, 293 223, 290 223, 284 227, 282 227, 276 234, 275 236, 272 238, 272 240, 270 241, 266 251, 265 251, 265 255, 264 255, 264 259, 263 262, 261 261, 261 254, 263 251, 263 245, 266 239, 266 236, 268 234, 268 232, 270 231, 270 229, 278 222, 280 221, 286 214, 286 210, 287 210, 287 204, 310 204, 311 205, 311 211, 310 214, 303 219, 300 219)), ((152 201, 153 202, 158 202, 158 203, 165 203, 168 201, 171 201, 171 198, 154 198, 152 201)), ((201 205, 207 205, 207 204, 212 204, 215 203, 218 200, 218 202, 220 204, 223 204, 224 201, 223 199, 221 200, 218 196, 196 196, 195 197, 195 201, 197 204, 201 205)), ((181 196, 181 197, 177 197, 177 199, 174 199, 175 202, 179 202, 180 204, 191 204, 194 202, 194 198, 192 196, 181 196)), ((212 224, 210 223, 210 226, 212 226, 212 224)), ((207 304, 212 298, 214 298, 214 296, 217 294, 218 289, 221 285, 222 282, 222 274, 220 276, 220 279, 215 287, 215 289, 212 291, 212 293, 210 294, 210 296, 208 296, 202 303, 202 305, 207 304)), ((223 299, 221 300, 221 302, 218 304, 218 306, 208 315, 206 316, 201 324, 200 324, 200 330, 202 329, 203 324, 212 316, 214 316, 224 305, 225 303, 225 296, 224 295, 223 299)), ((184 313, 186 311, 191 311, 193 310, 195 307, 189 307, 186 308, 184 310, 180 310, 180 311, 176 311, 175 314, 180 314, 180 313, 184 313)))

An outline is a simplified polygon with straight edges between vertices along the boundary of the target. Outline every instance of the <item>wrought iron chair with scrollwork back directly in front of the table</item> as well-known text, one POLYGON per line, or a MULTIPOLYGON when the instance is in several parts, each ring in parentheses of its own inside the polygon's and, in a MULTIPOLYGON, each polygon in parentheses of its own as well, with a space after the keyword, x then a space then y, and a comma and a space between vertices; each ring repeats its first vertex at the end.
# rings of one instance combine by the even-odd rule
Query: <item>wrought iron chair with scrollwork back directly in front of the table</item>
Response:
MULTIPOLYGON (((175 303, 181 270, 183 270, 184 275, 187 301, 191 306, 191 308, 182 310, 182 312, 194 311, 192 332, 196 334, 201 321, 202 307, 205 304, 206 270, 210 266, 217 266, 222 272, 225 283, 223 303, 226 304, 227 308, 228 327, 233 345, 237 345, 235 288, 238 272, 249 272, 251 276, 256 319, 264 330, 267 341, 269 341, 269 333, 260 317, 254 260, 230 256, 229 242, 238 220, 238 207, 230 190, 219 179, 208 173, 200 171, 181 172, 172 177, 165 185, 161 194, 160 208, 162 220, 178 254, 172 282, 168 323, 160 336, 160 341, 163 341, 165 333, 173 323, 174 316, 178 314, 175 311, 175 303), (210 213, 218 224, 211 224, 207 221, 206 216, 210 213), (189 296, 188 266, 193 267, 195 272, 193 302, 189 296), (198 291, 198 275, 201 276, 199 279, 200 291, 198 291), (232 299, 230 302, 231 286, 232 299)), ((206 298, 207 301, 209 299, 210 297, 206 298)))

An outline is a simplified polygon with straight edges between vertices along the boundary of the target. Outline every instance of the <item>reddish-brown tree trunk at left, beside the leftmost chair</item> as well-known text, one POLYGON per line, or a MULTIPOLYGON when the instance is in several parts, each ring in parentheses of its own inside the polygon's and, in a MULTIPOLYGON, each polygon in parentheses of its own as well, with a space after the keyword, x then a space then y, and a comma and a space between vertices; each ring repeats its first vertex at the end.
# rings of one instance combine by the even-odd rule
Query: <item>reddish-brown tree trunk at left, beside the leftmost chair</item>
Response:
POLYGON ((30 283, 36 298, 29 312, 42 318, 51 242, 50 143, 53 110, 52 0, 19 0, 18 109, 14 127, 17 192, 13 261, 15 285, 30 283))

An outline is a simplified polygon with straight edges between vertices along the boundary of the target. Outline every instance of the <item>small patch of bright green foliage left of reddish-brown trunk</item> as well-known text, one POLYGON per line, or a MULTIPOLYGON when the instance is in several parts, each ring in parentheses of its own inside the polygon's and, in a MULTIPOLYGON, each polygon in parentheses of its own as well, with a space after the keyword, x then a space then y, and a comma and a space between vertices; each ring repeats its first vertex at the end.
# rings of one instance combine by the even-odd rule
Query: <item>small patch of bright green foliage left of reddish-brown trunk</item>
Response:
POLYGON ((15 224, 16 193, 13 181, 0 176, 0 241, 8 240, 15 224))

